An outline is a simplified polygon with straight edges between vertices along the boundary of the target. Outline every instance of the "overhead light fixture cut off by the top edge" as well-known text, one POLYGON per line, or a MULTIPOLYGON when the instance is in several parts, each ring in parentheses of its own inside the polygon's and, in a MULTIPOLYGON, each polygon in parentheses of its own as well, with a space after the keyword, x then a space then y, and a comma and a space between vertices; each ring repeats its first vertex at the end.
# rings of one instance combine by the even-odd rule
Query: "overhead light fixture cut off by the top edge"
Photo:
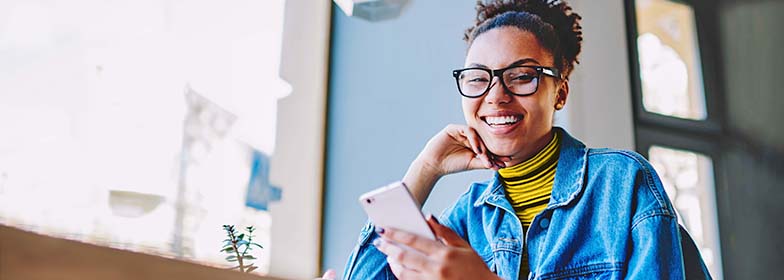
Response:
POLYGON ((393 19, 408 0, 334 0, 347 16, 368 21, 393 19))

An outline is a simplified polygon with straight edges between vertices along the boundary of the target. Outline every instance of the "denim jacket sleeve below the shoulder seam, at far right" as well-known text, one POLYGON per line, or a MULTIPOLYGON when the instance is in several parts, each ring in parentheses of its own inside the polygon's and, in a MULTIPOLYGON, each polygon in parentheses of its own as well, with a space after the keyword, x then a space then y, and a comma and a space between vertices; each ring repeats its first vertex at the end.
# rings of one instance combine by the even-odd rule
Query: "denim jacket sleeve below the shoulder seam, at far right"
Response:
POLYGON ((632 226, 627 279, 684 279, 678 220, 649 213, 632 226))

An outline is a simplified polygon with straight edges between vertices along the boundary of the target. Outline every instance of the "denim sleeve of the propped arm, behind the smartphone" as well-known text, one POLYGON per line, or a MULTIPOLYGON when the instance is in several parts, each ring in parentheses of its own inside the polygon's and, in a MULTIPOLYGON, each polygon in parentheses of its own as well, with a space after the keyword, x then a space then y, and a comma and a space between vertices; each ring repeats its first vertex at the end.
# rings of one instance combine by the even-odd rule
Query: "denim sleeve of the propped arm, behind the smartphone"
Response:
POLYGON ((375 226, 368 221, 348 258, 343 279, 396 279, 387 263, 387 256, 373 246, 376 238, 375 226))

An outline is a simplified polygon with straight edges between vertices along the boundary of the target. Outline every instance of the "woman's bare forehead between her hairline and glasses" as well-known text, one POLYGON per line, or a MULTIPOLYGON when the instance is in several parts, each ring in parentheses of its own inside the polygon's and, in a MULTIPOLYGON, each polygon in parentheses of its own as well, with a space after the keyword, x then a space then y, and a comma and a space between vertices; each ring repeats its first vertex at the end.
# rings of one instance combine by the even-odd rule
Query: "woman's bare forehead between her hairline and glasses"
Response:
POLYGON ((485 65, 498 69, 521 59, 534 59, 553 66, 553 55, 539 44, 531 32, 504 26, 489 30, 474 39, 466 55, 465 66, 485 65))

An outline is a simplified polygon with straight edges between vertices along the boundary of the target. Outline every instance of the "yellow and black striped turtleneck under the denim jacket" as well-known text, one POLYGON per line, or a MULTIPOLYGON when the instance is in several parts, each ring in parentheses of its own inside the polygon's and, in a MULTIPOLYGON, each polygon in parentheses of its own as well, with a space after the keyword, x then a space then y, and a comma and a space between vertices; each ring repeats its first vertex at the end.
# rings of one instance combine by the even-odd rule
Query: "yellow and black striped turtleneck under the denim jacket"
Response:
POLYGON ((507 198, 512 203, 524 230, 550 201, 561 146, 559 141, 558 133, 554 132, 550 143, 534 157, 515 166, 498 170, 507 198))

